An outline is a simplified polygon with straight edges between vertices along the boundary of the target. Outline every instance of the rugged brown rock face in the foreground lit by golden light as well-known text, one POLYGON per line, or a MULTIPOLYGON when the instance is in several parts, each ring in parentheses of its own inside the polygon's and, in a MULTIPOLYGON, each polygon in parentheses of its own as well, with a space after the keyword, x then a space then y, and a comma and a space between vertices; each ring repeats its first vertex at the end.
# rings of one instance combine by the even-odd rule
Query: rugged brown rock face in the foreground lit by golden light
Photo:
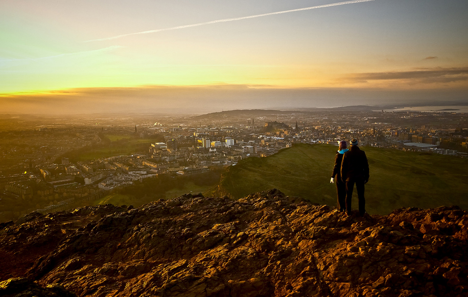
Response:
POLYGON ((277 190, 33 212, 0 225, 0 295, 462 297, 467 239, 456 207, 346 216, 277 190))

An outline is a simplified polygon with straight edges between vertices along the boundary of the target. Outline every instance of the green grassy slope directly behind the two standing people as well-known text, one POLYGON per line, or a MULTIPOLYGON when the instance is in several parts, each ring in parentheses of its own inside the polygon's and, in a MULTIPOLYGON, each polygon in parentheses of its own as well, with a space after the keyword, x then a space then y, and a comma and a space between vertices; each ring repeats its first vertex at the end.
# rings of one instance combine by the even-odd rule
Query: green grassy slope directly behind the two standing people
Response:
MULTIPOLYGON (((240 198, 277 188, 319 204, 336 205, 330 184, 337 147, 297 144, 266 158, 248 158, 223 174, 218 194, 240 198)), ((363 147, 369 159, 366 210, 386 214, 402 207, 458 205, 468 210, 468 160, 455 157, 363 147)), ((357 209, 354 190, 352 208, 357 209)))

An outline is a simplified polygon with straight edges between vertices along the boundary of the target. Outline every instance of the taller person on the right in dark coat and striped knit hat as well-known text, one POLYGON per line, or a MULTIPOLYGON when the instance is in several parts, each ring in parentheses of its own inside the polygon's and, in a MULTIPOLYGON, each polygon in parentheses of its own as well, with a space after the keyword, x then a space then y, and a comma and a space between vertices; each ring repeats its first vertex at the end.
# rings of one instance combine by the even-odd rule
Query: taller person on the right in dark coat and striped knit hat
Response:
POLYGON ((343 155, 341 162, 341 178, 346 184, 346 213, 351 215, 351 197, 356 184, 359 214, 366 213, 366 199, 364 198, 364 184, 369 181, 369 163, 366 153, 357 147, 357 139, 351 140, 351 148, 343 155))

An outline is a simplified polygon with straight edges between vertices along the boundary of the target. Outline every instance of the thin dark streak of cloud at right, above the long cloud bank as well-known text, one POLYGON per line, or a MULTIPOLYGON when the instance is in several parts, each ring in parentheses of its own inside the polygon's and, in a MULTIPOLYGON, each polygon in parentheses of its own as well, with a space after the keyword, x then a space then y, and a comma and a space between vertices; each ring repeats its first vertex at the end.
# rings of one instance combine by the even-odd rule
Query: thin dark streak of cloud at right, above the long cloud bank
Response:
POLYGON ((369 81, 406 80, 413 83, 450 83, 468 80, 468 67, 424 68, 411 71, 354 73, 342 78, 350 83, 369 81))

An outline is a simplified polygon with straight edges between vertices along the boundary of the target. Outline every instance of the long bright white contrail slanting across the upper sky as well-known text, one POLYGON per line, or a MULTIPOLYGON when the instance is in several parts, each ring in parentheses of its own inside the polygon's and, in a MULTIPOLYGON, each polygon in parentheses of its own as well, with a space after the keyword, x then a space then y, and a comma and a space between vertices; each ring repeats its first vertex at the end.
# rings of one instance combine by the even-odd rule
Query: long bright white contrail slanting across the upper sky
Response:
POLYGON ((122 35, 117 35, 117 36, 113 36, 113 37, 101 38, 101 39, 93 39, 93 40, 88 40, 88 41, 85 41, 85 42, 112 40, 112 39, 117 39, 117 38, 121 38, 121 37, 125 37, 125 36, 130 36, 130 35, 156 33, 156 32, 161 32, 161 31, 169 31, 169 30, 184 29, 184 28, 189 28, 189 27, 209 25, 209 24, 214 24, 214 23, 217 23, 217 22, 240 21, 240 20, 245 20, 245 19, 253 19, 253 18, 259 18, 259 17, 265 17, 265 16, 279 15, 279 14, 288 13, 288 12, 310 10, 310 9, 316 9, 316 8, 325 8, 325 7, 331 7, 331 6, 353 4, 353 3, 359 3, 359 2, 368 2, 368 1, 374 1, 374 0, 351 0, 351 1, 344 1, 344 2, 338 2, 338 3, 331 3, 331 4, 324 4, 324 5, 318 5, 318 6, 304 7, 304 8, 298 8, 298 9, 270 12, 270 13, 264 13, 264 14, 261 14, 261 15, 255 15, 255 16, 199 22, 199 23, 190 24, 190 25, 183 25, 183 26, 170 27, 170 28, 164 28, 164 29, 142 31, 142 32, 136 32, 136 33, 128 33, 128 34, 122 34, 122 35))

